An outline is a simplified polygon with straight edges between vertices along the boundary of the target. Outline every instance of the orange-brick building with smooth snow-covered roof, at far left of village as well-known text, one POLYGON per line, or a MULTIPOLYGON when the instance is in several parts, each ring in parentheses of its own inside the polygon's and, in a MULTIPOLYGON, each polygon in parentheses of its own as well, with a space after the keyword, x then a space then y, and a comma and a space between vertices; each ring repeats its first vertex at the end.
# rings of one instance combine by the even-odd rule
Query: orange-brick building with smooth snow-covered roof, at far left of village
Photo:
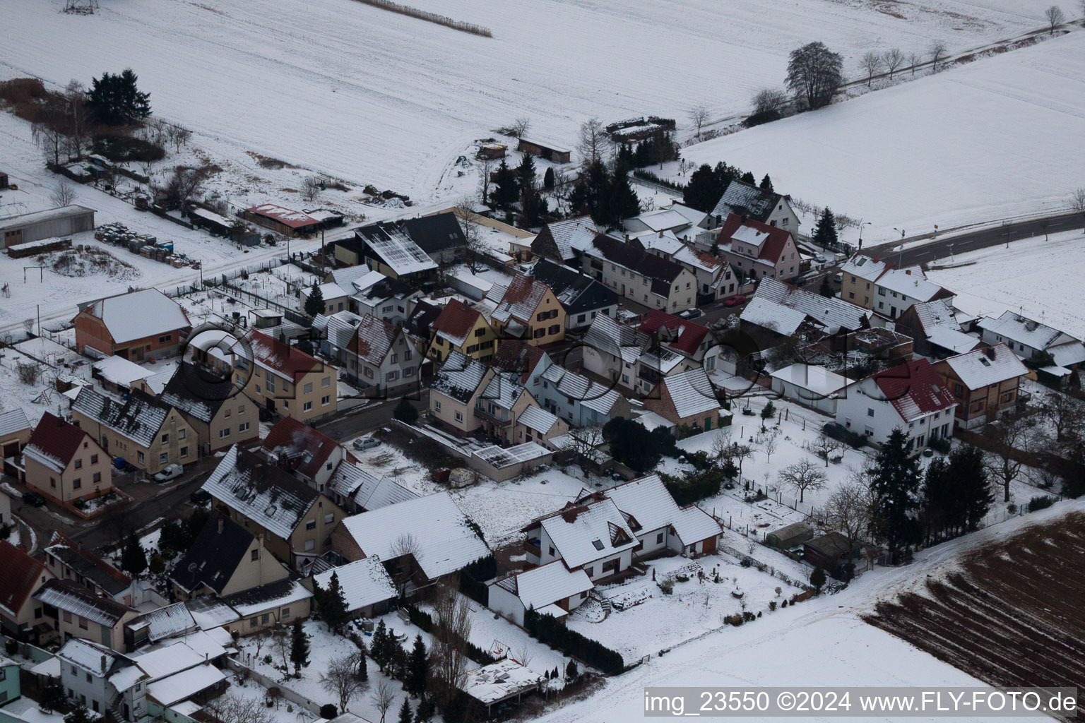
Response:
POLYGON ((156 288, 80 305, 72 323, 79 353, 130 361, 171 357, 192 331, 184 309, 156 288))

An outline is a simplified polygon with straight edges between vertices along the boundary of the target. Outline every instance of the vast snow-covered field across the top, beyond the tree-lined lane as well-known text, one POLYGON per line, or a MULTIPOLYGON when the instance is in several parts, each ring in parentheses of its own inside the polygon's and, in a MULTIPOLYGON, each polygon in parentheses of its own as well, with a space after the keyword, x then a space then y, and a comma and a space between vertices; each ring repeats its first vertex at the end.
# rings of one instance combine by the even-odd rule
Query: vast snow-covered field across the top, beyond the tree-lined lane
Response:
POLYGON ((1049 2, 410 3, 493 38, 350 0, 105 0, 93 16, 62 4, 9 0, 0 64, 61 85, 130 66, 156 113, 213 155, 254 151, 426 198, 457 188, 472 140, 518 117, 565 147, 592 116, 688 125, 698 103, 715 117, 744 112, 804 42, 842 52, 856 76, 866 50, 976 47, 1041 27, 1049 2))

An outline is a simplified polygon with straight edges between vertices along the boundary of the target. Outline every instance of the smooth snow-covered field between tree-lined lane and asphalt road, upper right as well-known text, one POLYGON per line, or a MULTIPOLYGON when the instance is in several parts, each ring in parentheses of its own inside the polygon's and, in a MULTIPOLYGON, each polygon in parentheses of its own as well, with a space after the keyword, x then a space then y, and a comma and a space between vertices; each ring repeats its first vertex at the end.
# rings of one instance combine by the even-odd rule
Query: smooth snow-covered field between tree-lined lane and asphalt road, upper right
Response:
POLYGON ((1085 184, 1085 149, 1073 142, 1083 133, 1085 33, 1075 30, 684 156, 767 172, 777 191, 870 221, 871 245, 898 237, 894 227, 916 235, 1068 209, 1085 184))

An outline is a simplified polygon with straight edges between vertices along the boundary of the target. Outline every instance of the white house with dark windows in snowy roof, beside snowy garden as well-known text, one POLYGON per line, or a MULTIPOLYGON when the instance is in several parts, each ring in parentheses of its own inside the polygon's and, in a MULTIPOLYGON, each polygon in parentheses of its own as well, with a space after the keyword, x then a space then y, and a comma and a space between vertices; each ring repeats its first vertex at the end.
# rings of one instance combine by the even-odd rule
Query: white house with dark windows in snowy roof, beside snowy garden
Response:
POLYGON ((610 498, 569 502, 524 526, 527 563, 542 566, 561 560, 584 570, 593 583, 618 579, 633 564, 640 545, 629 522, 610 498))

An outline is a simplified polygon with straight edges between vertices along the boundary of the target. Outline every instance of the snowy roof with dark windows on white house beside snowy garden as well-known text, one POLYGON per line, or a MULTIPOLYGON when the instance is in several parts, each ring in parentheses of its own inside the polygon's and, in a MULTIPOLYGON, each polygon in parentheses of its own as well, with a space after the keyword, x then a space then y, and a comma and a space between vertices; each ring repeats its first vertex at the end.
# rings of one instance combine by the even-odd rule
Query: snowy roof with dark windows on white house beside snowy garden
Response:
MULTIPOLYGON (((570 568, 582 567, 601 557, 637 545, 625 516, 613 500, 585 505, 567 505, 538 521, 570 568)), ((532 525, 534 527, 534 525, 532 525)))

